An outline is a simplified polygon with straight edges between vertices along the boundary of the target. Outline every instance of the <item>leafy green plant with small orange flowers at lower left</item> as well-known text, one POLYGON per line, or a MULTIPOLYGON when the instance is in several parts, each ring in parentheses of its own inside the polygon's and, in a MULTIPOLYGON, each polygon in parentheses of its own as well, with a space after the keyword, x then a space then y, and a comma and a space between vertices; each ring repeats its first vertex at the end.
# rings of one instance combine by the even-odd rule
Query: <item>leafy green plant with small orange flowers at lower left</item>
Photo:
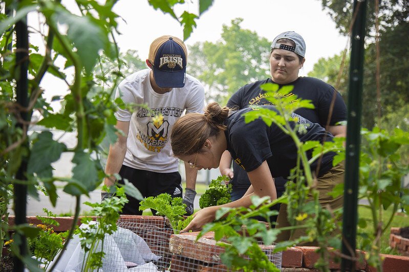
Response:
POLYGON ((50 262, 57 255, 63 247, 63 243, 67 238, 68 232, 56 233, 53 227, 59 226, 59 222, 53 219, 56 214, 43 209, 47 214, 47 217, 37 216, 44 224, 38 224, 37 228, 41 229, 35 238, 29 239, 28 244, 31 253, 36 257, 42 265, 42 267, 47 270, 50 262))

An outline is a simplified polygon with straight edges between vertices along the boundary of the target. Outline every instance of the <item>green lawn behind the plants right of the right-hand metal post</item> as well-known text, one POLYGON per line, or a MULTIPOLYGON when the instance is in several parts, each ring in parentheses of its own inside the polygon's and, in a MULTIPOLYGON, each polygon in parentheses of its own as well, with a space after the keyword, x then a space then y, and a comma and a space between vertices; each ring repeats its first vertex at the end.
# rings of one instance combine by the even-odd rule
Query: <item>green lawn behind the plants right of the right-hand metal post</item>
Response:
MULTIPOLYGON (((383 210, 382 211, 383 221, 388 221, 391 215, 392 215, 391 208, 387 210, 383 210)), ((373 237, 374 227, 373 227, 371 210, 368 207, 359 206, 358 207, 358 217, 365 219, 365 221, 367 221, 367 226, 365 228, 358 227, 357 233, 368 235, 369 237, 373 237)), ((395 214, 391 227, 401 228, 401 227, 408 227, 408 226, 409 226, 409 216, 407 214, 403 214, 403 213, 395 214)), ((381 253, 400 255, 396 250, 391 249, 389 246, 390 234, 391 234, 390 230, 386 230, 381 237, 381 253)), ((363 238, 361 236, 358 236, 357 237, 357 248, 358 249, 361 249, 362 241, 363 241, 363 238)))

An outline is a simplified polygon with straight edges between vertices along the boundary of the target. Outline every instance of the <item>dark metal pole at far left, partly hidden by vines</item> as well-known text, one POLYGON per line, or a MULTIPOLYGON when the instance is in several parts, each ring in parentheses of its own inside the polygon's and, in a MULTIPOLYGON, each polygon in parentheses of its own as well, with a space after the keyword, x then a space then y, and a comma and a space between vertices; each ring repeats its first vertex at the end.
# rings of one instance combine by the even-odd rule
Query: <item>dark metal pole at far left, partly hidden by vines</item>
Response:
MULTIPOLYGON (((27 79, 27 72, 28 72, 28 62, 29 62, 29 55, 28 55, 28 30, 27 30, 27 16, 21 18, 15 24, 16 30, 16 74, 18 78, 16 79, 16 100, 17 104, 19 104, 22 108, 27 109, 29 99, 28 99, 28 79, 27 79)), ((28 128, 27 121, 29 118, 29 114, 27 110, 20 111, 20 116, 24 122, 18 123, 20 128, 26 126, 28 128)), ((27 130, 25 131, 27 134, 27 130)), ((28 150, 28 141, 26 140, 23 145, 26 145, 28 150)), ((26 172, 27 172, 27 156, 21 158, 21 164, 16 174, 16 179, 21 181, 27 181, 26 172)), ((27 184, 24 183, 16 183, 14 184, 14 214, 15 214, 15 224, 16 226, 21 224, 26 224, 26 215, 27 215, 27 184)), ((20 255, 25 257, 27 256, 27 239, 26 236, 19 234, 18 232, 15 233, 18 240, 20 241, 19 244, 19 251, 20 255)), ((18 257, 14 257, 13 260, 14 267, 13 271, 24 271, 24 263, 18 257)))

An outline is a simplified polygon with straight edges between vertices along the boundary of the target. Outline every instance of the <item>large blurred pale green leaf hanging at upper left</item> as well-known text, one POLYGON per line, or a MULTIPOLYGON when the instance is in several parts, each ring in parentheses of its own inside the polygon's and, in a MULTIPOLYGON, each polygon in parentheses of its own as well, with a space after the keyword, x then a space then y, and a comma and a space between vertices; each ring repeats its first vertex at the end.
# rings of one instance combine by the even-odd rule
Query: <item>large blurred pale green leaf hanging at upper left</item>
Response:
POLYGON ((77 54, 87 73, 92 71, 98 59, 98 52, 108 43, 104 31, 88 17, 78 17, 68 12, 59 12, 56 20, 67 24, 68 38, 77 48, 77 54))

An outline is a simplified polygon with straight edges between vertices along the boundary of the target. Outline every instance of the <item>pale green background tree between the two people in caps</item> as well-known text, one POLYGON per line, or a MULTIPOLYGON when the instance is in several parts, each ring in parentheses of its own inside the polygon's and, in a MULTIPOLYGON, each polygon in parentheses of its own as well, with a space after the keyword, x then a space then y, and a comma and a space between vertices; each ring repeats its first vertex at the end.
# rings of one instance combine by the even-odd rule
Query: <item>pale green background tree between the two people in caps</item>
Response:
POLYGON ((189 46, 190 75, 208 87, 206 100, 225 103, 243 85, 269 76, 270 42, 240 27, 242 18, 223 26, 221 40, 189 46))

